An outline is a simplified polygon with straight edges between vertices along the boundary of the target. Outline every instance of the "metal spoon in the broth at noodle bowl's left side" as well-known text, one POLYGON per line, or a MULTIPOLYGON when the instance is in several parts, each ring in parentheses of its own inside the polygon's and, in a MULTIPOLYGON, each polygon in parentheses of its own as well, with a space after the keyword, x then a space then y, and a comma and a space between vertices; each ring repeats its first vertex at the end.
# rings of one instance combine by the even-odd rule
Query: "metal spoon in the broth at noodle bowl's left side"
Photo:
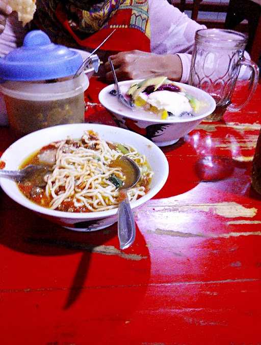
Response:
POLYGON ((16 182, 22 182, 24 180, 30 180, 31 178, 36 178, 40 176, 46 175, 47 171, 49 170, 49 166, 47 165, 33 165, 30 164, 23 169, 20 170, 4 170, 0 169, 0 177, 5 177, 16 182))

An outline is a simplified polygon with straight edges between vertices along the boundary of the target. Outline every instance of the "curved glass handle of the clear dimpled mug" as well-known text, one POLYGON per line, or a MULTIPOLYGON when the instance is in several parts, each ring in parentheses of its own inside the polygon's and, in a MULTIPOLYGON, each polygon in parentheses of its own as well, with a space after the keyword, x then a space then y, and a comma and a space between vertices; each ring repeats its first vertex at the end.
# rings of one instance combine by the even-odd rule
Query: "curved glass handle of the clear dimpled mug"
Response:
POLYGON ((239 105, 230 104, 227 107, 227 110, 229 110, 229 111, 238 111, 238 110, 242 109, 252 98, 253 93, 255 92, 255 89, 257 87, 257 83, 258 83, 259 69, 258 69, 257 65, 253 61, 247 60, 245 58, 240 62, 240 65, 246 66, 246 67, 249 67, 250 69, 252 69, 252 73, 251 73, 251 77, 250 77, 250 81, 249 81, 249 86, 248 86, 249 95, 248 95, 247 99, 239 105))

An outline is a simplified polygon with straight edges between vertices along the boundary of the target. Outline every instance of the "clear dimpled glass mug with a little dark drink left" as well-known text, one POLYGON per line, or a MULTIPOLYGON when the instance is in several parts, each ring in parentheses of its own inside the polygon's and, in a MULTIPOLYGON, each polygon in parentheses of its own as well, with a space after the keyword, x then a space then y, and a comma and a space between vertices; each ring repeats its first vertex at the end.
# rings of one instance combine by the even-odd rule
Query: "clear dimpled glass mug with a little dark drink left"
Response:
POLYGON ((253 96, 259 70, 255 63, 245 59, 247 36, 232 30, 201 29, 196 32, 192 53, 189 84, 206 91, 216 101, 215 111, 206 121, 219 121, 227 110, 238 111, 253 96), (249 94, 239 105, 231 104, 240 68, 251 69, 249 94))

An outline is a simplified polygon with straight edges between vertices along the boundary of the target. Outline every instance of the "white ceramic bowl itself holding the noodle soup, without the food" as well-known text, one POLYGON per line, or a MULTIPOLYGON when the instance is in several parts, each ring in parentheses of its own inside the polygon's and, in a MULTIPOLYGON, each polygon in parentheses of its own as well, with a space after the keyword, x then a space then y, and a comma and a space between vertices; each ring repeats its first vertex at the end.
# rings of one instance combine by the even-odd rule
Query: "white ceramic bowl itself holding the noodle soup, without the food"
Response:
MULTIPOLYGON (((5 169, 16 170, 21 162, 33 152, 48 143, 66 138, 81 138, 85 130, 94 130, 100 137, 114 142, 125 143, 137 148, 144 154, 154 171, 149 192, 131 203, 132 209, 144 204, 160 191, 168 177, 168 162, 164 153, 145 137, 122 128, 98 124, 68 124, 30 133, 15 141, 2 155, 1 160, 6 163, 5 169), (33 143, 33 146, 32 146, 33 143)), ((117 208, 109 211, 90 213, 71 213, 41 207, 26 198, 18 189, 14 181, 0 178, 0 186, 18 204, 38 213, 64 227, 75 231, 94 231, 105 228, 117 221, 117 208)))

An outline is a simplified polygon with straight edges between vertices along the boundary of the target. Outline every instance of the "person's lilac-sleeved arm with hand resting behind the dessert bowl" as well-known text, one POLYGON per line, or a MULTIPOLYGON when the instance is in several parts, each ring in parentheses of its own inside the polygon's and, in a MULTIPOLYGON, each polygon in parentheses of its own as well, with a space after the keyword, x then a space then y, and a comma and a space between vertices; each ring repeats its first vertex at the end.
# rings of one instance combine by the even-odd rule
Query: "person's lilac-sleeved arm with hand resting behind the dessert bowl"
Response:
MULTIPOLYGON (((167 0, 149 0, 151 53, 128 51, 111 56, 119 79, 148 78, 165 75, 169 79, 187 82, 190 53, 199 25, 167 0)), ((105 65, 107 80, 112 80, 110 66, 105 65)))

